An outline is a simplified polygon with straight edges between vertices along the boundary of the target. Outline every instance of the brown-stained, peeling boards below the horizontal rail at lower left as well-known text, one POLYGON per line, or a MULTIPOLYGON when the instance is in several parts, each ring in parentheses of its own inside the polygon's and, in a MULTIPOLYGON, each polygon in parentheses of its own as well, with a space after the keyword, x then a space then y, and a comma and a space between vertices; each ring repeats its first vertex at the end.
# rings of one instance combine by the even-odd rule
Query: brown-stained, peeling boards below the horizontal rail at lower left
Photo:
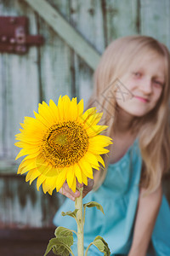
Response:
POLYGON ((22 176, 0 177, 0 229, 53 226, 65 197, 56 191, 45 195, 36 185, 34 181, 30 186, 22 176))

